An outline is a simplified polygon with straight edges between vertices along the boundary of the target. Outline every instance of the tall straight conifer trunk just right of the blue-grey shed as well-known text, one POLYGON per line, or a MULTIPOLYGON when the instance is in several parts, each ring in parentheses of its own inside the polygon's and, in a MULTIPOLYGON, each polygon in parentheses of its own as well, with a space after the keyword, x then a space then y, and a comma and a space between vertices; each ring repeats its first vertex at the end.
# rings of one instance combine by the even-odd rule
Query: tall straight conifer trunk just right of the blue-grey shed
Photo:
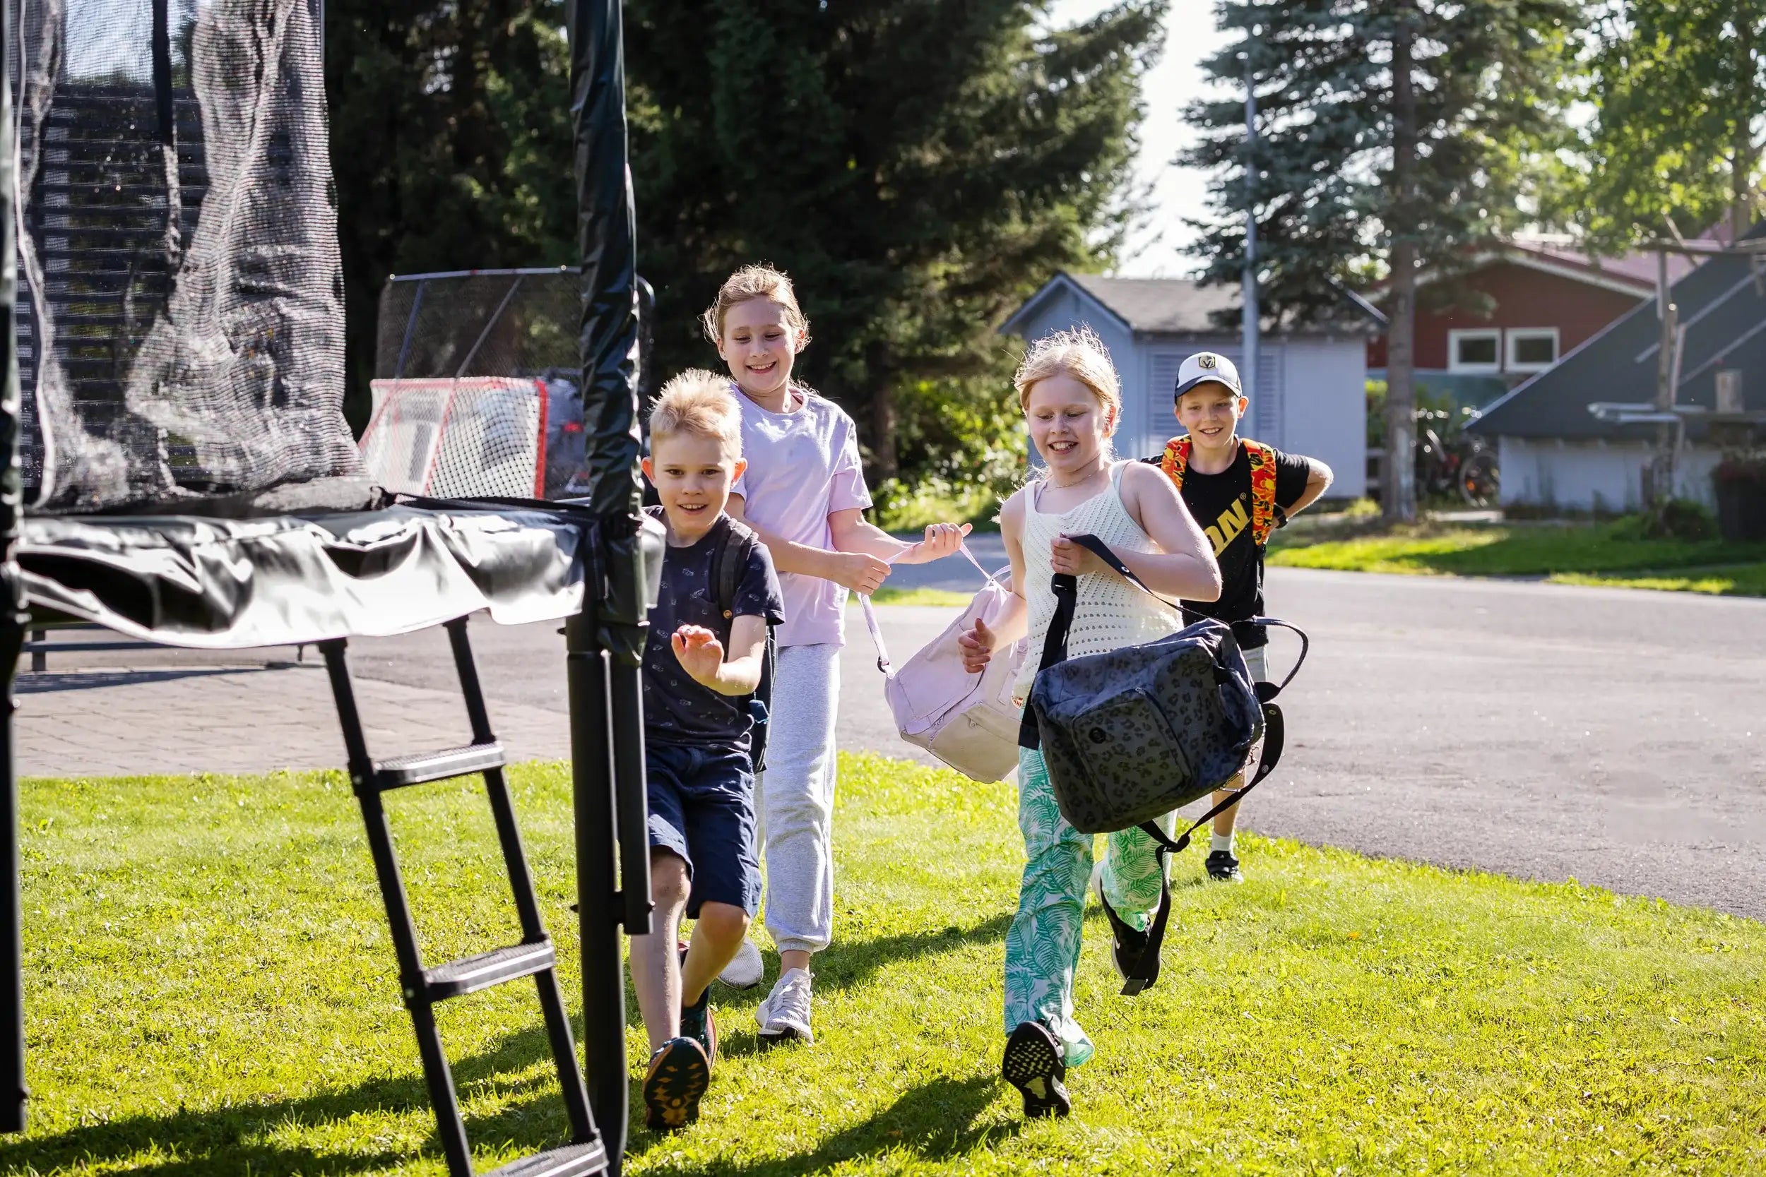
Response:
POLYGON ((1392 321, 1386 328, 1386 466, 1381 508, 1388 522, 1416 519, 1416 35, 1413 0, 1399 0, 1392 37, 1392 321))

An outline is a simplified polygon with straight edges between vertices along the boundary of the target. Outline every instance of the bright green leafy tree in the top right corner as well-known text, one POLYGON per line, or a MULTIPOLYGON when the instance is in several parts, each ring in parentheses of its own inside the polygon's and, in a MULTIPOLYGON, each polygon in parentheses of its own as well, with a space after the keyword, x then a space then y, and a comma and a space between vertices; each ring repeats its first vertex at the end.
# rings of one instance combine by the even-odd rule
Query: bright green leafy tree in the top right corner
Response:
POLYGON ((1602 0, 1582 44, 1595 106, 1559 217, 1619 252, 1672 222, 1747 233, 1766 131, 1766 0, 1602 0))

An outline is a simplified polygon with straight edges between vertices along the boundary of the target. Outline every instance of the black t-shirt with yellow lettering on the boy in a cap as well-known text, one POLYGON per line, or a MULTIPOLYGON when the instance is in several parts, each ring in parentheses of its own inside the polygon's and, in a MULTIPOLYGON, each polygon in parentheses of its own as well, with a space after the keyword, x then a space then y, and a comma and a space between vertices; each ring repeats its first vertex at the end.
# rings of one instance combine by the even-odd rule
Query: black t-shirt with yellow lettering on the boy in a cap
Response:
MULTIPOLYGON (((1162 455, 1160 455, 1162 457, 1162 455)), ((1158 457, 1148 459, 1158 462, 1158 457)), ((1213 545, 1220 563, 1220 600, 1187 600, 1185 609, 1220 621, 1243 621, 1263 614, 1263 549, 1250 538, 1250 457, 1238 446, 1238 457, 1219 475, 1204 475, 1194 466, 1183 471, 1183 505, 1213 545)), ((1312 464, 1293 454, 1275 452, 1275 505, 1284 512, 1307 492, 1312 464)), ((1238 644, 1256 649, 1268 644, 1259 625, 1234 625, 1238 644)))

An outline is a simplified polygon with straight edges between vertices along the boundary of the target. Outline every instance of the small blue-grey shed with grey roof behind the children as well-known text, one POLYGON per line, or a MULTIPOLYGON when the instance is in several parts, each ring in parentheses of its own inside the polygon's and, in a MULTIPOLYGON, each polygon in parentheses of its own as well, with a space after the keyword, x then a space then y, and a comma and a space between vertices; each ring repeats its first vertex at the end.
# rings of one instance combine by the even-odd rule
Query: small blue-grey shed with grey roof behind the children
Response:
MULTIPOLYGON (((1171 394, 1185 356, 1219 351, 1243 371, 1238 330, 1222 330, 1215 321, 1238 304, 1236 286, 1063 270, 1000 330, 1023 339, 1081 325, 1097 332, 1121 378, 1116 452, 1148 457, 1178 432, 1171 394)), ((1326 462, 1337 475, 1330 498, 1358 498, 1367 491, 1365 330, 1266 325, 1257 348, 1257 386, 1245 392, 1250 408, 1241 436, 1326 462)))

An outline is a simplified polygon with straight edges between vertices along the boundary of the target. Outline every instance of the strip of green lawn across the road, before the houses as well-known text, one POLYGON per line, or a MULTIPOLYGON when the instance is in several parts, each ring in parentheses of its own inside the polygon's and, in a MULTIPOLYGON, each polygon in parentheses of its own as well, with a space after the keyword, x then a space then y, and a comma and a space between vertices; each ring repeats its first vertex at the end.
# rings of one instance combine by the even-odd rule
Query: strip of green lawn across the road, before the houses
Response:
POLYGON ((1649 540, 1630 519, 1600 524, 1416 524, 1344 536, 1275 533, 1272 565, 1420 575, 1545 577, 1695 593, 1766 595, 1766 544, 1649 540))

